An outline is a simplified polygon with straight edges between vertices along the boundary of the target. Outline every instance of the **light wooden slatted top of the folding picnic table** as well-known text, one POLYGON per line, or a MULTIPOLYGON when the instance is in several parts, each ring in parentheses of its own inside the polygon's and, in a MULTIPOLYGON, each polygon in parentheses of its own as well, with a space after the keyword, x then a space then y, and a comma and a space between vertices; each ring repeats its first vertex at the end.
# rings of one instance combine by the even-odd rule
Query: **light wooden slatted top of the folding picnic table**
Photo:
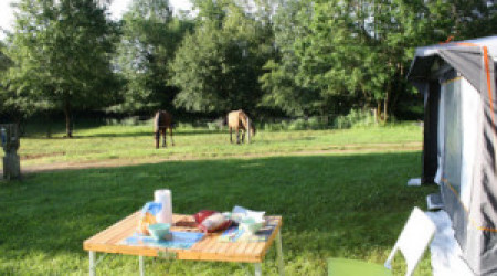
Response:
MULTIPOLYGON (((136 232, 140 212, 133 213, 83 242, 83 250, 141 256, 172 256, 177 259, 262 263, 278 233, 282 216, 266 216, 276 226, 265 242, 221 242, 221 233, 207 234, 189 250, 126 245, 121 241, 136 232)), ((173 214, 171 231, 200 232, 192 215, 173 214)))

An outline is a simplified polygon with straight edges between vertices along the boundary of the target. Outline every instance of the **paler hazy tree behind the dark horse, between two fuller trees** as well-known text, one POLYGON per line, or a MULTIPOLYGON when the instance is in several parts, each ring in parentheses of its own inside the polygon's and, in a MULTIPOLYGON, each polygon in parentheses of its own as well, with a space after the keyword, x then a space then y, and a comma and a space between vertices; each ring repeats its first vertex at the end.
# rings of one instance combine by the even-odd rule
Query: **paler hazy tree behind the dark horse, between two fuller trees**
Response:
POLYGON ((168 65, 186 31, 188 20, 172 17, 168 0, 134 0, 123 18, 117 68, 126 84, 120 112, 170 108, 176 87, 167 85, 168 65))

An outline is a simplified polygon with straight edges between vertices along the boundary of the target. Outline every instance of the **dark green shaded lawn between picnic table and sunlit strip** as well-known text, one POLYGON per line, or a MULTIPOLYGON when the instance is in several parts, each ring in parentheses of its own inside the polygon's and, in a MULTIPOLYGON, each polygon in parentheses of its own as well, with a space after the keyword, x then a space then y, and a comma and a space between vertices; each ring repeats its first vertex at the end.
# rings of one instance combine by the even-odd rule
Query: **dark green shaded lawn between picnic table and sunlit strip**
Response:
POLYGON ((412 208, 435 190, 406 187, 419 160, 417 152, 277 157, 33 174, 0 185, 0 251, 10 261, 30 251, 86 255, 84 240, 168 188, 177 213, 242 205, 283 215, 289 258, 367 256, 390 250, 412 208))

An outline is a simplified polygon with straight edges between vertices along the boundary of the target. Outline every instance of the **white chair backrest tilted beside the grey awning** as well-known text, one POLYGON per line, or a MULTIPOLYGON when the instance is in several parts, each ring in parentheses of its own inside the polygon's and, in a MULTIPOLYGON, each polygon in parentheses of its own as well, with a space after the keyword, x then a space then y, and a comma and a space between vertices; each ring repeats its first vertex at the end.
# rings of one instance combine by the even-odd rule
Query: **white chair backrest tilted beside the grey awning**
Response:
POLYGON ((393 257, 396 251, 401 251, 408 264, 405 275, 411 276, 435 232, 436 226, 432 220, 419 208, 414 208, 384 266, 392 269, 393 257))

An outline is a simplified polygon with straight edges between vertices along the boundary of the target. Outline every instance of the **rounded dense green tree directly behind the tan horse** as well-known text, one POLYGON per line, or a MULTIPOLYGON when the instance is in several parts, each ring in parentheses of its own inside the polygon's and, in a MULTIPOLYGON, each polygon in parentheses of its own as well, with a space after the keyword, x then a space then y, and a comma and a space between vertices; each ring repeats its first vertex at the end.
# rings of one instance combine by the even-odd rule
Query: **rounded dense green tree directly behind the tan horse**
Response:
POLYGON ((268 14, 230 0, 194 4, 198 26, 171 64, 170 82, 181 89, 175 104, 194 112, 254 110, 262 97, 257 78, 273 54, 268 14))

